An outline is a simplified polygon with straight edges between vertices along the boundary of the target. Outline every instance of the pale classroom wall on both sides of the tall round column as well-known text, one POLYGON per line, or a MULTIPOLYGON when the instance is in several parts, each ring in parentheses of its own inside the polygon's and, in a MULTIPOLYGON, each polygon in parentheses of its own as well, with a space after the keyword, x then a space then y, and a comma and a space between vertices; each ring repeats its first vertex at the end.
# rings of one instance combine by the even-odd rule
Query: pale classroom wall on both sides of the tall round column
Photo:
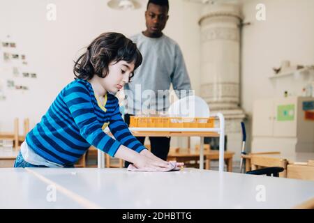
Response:
MULTIPOLYGON (((0 131, 13 130, 13 118, 29 117, 31 127, 40 121, 50 103, 63 86, 73 79, 73 59, 80 49, 104 31, 119 31, 131 36, 145 29, 144 6, 120 12, 106 6, 103 0, 1 0, 0 40, 17 43, 12 52, 25 54, 27 66, 17 64, 22 72, 36 72, 36 79, 15 78, 29 91, 6 89, 7 100, 0 100, 0 131), (57 6, 57 20, 48 21, 47 4, 57 6), (7 38, 10 35, 10 38, 7 38)), ((268 78, 271 68, 288 59, 292 63, 314 63, 314 1, 312 0, 248 0, 242 5, 244 22, 241 43, 241 107, 248 114, 248 149, 251 141, 253 101, 271 98, 273 86, 268 78), (255 19, 257 3, 266 6, 266 21, 255 19)), ((202 4, 170 1, 170 19, 165 33, 176 40, 186 59, 193 89, 199 93, 200 33, 197 22, 202 4)), ((3 63, 0 46, 1 79, 12 79, 12 64, 3 63)), ((22 126, 20 126, 22 132, 22 126)), ((173 146, 186 146, 174 138, 173 146)))

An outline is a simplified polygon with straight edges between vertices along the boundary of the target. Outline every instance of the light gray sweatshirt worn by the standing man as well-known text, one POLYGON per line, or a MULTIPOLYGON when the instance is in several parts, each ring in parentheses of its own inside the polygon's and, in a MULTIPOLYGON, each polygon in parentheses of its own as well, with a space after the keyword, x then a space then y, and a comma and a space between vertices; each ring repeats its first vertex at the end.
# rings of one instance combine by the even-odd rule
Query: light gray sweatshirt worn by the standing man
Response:
POLYGON ((164 34, 149 38, 138 33, 130 39, 140 49, 143 61, 131 82, 124 86, 126 113, 167 112, 171 84, 178 98, 190 94, 190 78, 179 45, 164 34))

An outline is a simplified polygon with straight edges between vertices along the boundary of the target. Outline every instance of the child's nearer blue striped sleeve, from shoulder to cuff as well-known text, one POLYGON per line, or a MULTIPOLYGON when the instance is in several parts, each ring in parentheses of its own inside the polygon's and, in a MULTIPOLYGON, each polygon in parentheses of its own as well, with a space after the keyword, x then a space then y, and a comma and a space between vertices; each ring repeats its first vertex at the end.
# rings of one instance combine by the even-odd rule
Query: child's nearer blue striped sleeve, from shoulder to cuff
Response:
POLYGON ((102 125, 94 113, 91 95, 83 84, 72 84, 63 93, 63 100, 70 110, 80 134, 96 148, 114 156, 121 143, 103 132, 102 125))

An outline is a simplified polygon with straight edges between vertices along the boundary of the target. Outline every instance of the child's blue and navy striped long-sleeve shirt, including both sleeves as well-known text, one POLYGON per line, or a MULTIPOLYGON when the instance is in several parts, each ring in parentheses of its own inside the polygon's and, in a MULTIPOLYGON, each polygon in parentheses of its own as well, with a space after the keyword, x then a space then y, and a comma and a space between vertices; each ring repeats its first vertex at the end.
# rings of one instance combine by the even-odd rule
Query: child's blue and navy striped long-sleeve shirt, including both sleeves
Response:
POLYGON ((121 144, 140 153, 144 146, 121 118, 119 100, 110 93, 106 98, 100 105, 91 84, 75 79, 27 134, 27 144, 41 157, 62 165, 77 162, 91 145, 112 157, 121 144), (116 140, 103 132, 107 125, 116 140))

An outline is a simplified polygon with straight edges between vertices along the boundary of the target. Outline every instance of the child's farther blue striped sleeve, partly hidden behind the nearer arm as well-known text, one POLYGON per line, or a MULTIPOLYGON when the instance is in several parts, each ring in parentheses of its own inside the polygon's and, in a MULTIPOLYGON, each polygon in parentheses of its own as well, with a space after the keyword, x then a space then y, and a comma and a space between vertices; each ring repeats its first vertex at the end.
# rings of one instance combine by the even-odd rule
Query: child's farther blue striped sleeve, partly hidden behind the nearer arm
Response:
POLYGON ((114 98, 116 102, 116 107, 110 118, 109 129, 110 132, 114 135, 114 138, 121 142, 124 146, 140 153, 145 147, 138 141, 133 134, 128 130, 128 125, 121 118, 120 107, 118 99, 114 98))

